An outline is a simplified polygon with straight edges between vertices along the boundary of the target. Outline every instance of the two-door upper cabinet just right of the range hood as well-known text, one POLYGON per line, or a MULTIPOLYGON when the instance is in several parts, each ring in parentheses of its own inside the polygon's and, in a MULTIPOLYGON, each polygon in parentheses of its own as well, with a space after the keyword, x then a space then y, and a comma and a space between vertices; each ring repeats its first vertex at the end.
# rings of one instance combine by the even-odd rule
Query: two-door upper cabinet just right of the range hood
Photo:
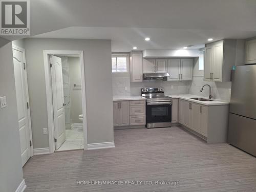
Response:
POLYGON ((193 59, 168 59, 169 80, 192 80, 193 59))

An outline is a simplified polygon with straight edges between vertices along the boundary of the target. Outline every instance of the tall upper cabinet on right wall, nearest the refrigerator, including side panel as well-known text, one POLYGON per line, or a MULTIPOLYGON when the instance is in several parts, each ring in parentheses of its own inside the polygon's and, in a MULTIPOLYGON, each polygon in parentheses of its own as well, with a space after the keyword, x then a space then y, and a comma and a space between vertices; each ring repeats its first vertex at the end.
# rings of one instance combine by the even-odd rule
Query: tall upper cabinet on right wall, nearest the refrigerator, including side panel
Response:
POLYGON ((205 45, 204 81, 230 81, 236 63, 236 39, 223 39, 205 45))

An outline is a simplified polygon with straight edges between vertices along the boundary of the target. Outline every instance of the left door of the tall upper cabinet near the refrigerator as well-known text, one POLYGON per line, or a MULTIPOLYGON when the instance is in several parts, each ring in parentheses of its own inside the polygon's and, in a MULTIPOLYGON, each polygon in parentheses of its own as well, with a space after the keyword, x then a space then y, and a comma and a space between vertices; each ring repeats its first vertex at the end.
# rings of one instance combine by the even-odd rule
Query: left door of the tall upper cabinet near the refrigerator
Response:
POLYGON ((214 48, 206 47, 204 52, 204 81, 211 81, 212 55, 214 48))

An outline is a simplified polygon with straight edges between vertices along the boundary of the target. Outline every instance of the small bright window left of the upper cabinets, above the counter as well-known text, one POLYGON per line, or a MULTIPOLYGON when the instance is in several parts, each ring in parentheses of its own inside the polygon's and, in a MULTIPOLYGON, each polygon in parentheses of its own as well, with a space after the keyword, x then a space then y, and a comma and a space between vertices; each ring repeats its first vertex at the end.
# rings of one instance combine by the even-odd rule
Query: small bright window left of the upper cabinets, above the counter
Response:
POLYGON ((128 55, 112 55, 112 73, 127 73, 128 58, 128 55))

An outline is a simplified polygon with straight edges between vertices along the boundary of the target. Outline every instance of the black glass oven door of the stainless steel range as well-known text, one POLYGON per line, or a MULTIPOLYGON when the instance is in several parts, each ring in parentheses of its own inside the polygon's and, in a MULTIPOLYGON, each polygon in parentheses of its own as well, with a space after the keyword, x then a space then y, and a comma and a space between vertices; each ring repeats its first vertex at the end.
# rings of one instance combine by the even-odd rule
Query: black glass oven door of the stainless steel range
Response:
POLYGON ((172 102, 147 102, 146 123, 171 122, 172 102))

